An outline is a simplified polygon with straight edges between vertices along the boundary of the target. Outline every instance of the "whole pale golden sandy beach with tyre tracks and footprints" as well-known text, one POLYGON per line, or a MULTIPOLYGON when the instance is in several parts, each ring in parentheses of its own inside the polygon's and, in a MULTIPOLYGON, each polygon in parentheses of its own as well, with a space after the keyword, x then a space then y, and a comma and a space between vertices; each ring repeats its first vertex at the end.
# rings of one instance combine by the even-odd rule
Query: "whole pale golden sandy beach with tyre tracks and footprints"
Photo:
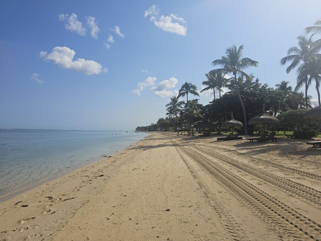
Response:
POLYGON ((320 154, 153 132, 0 203, 0 240, 321 240, 320 154))

